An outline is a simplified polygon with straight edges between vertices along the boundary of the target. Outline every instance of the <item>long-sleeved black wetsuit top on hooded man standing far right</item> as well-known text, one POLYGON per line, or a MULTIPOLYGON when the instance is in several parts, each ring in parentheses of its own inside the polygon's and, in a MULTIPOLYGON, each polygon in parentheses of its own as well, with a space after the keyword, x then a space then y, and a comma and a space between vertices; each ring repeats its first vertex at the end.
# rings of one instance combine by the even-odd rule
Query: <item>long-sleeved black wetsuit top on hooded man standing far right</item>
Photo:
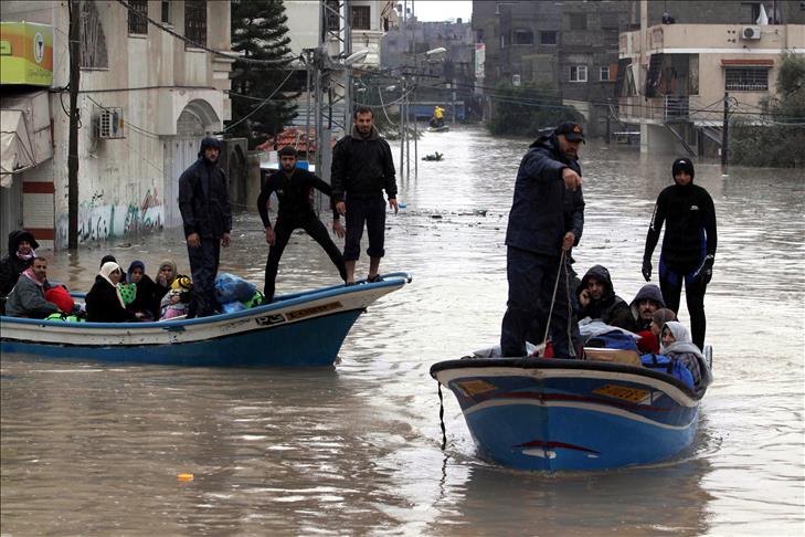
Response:
POLYGON ((692 178, 685 186, 675 180, 657 197, 644 259, 652 257, 664 223, 660 257, 671 270, 687 274, 707 255, 716 255, 716 208, 707 190, 693 185, 692 178))

